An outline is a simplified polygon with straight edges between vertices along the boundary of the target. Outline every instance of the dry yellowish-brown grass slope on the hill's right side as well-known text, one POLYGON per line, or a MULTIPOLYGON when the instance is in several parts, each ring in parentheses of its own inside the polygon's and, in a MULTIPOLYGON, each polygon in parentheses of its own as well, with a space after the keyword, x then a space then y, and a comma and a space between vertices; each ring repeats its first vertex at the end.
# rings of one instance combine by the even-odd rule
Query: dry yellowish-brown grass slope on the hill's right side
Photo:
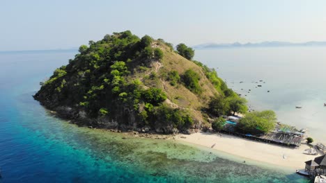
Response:
POLYGON ((206 78, 203 69, 194 62, 183 58, 160 42, 154 42, 153 47, 160 48, 163 51, 162 60, 152 62, 148 70, 136 72, 132 78, 139 78, 146 88, 157 87, 162 89, 166 92, 168 98, 165 103, 171 105, 171 107, 188 110, 194 119, 204 121, 200 110, 207 107, 210 97, 219 94, 219 92, 206 78), (201 76, 199 84, 203 92, 200 95, 192 93, 182 83, 172 86, 169 81, 164 80, 164 74, 169 71, 177 71, 179 76, 182 76, 188 69, 196 71, 201 76))

